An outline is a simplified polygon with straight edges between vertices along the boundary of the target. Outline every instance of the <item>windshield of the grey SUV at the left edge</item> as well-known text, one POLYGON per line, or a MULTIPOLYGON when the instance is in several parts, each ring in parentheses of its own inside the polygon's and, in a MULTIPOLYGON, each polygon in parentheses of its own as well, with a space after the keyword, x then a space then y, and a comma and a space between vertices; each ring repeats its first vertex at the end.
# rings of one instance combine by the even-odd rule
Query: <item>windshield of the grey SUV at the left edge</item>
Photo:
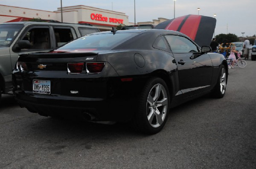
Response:
POLYGON ((15 36, 20 32, 22 24, 3 24, 0 25, 0 46, 9 46, 15 39, 15 36))

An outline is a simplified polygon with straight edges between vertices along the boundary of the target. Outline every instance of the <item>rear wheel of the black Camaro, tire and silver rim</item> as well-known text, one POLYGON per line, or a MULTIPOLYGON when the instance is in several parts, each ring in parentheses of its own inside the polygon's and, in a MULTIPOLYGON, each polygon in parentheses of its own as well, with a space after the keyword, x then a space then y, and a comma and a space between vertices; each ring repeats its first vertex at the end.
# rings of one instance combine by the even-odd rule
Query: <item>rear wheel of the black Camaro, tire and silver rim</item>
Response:
POLYGON ((137 102, 138 111, 132 121, 134 129, 146 134, 160 132, 169 113, 170 95, 166 82, 157 77, 148 79, 137 102))

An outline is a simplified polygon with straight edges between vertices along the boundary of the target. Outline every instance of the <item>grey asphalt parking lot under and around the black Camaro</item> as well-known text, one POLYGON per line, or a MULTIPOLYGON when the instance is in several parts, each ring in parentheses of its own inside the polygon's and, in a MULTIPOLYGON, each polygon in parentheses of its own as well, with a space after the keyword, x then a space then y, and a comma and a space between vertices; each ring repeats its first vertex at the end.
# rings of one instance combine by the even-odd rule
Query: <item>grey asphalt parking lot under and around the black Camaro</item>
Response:
POLYGON ((256 62, 229 69, 223 99, 204 96, 170 111, 156 135, 126 124, 43 117, 12 96, 0 105, 0 168, 256 167, 256 62))

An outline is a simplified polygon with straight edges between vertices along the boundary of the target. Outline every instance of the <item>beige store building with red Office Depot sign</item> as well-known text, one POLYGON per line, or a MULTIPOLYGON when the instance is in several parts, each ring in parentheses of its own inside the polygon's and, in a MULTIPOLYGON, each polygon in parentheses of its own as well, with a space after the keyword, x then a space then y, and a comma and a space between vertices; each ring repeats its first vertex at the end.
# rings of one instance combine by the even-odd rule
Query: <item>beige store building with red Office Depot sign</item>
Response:
MULTIPOLYGON (((43 11, 0 5, 0 23, 18 22, 33 18, 61 22, 61 8, 58 8, 57 11, 43 11)), ((132 25, 128 22, 129 17, 125 13, 83 5, 63 7, 62 18, 64 23, 90 23, 101 31, 109 31, 112 27, 120 24, 132 25)))

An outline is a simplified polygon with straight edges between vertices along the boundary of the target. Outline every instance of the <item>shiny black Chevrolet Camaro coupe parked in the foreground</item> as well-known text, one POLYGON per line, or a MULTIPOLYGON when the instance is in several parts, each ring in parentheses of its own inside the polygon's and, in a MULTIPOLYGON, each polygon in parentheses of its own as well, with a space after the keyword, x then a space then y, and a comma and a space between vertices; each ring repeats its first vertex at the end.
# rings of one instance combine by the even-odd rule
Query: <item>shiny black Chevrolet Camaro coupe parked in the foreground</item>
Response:
POLYGON ((13 93, 33 113, 131 122, 154 134, 169 108, 209 92, 224 96, 227 61, 210 50, 177 31, 90 34, 48 53, 21 54, 13 93))

